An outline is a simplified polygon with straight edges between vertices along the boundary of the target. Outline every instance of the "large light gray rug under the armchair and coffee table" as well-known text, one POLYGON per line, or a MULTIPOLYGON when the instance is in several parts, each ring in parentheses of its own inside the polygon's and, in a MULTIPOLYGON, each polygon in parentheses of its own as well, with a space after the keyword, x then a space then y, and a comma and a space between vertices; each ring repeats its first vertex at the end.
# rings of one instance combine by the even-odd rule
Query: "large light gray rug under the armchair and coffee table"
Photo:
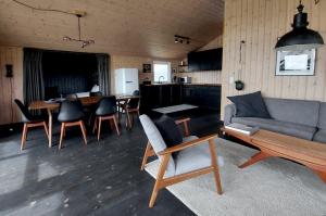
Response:
MULTIPOLYGON (((326 216, 326 185, 309 168, 272 157, 240 169, 258 151, 221 139, 216 150, 223 195, 211 174, 167 188, 197 215, 326 216)), ((154 161, 146 170, 154 177, 158 168, 154 161)))

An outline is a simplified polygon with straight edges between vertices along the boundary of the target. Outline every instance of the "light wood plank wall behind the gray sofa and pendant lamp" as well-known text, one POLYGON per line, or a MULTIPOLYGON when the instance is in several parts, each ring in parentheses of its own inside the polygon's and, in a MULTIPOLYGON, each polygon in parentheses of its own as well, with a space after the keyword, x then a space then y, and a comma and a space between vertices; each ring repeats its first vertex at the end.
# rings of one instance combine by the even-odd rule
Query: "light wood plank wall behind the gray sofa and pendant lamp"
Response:
MULTIPOLYGON (((326 1, 315 5, 303 0, 310 28, 326 41, 326 1)), ((277 37, 291 29, 298 0, 226 0, 224 23, 224 60, 222 73, 222 111, 227 96, 262 90, 275 98, 326 101, 326 48, 317 50, 315 76, 275 76, 277 37), (240 41, 244 40, 240 63, 240 41), (229 78, 242 79, 243 91, 235 90, 229 78)), ((222 113, 223 116, 223 113, 222 113)))

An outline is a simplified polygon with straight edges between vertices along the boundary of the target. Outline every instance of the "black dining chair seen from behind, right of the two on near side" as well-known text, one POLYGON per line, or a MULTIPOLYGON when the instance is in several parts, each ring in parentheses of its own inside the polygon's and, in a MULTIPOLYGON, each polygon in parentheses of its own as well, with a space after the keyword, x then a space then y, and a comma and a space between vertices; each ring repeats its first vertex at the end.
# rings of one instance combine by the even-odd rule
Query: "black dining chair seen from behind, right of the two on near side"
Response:
POLYGON ((100 100, 95 112, 96 119, 92 129, 92 132, 98 129, 98 140, 100 140, 101 125, 103 120, 109 120, 112 129, 114 124, 116 134, 120 136, 120 130, 116 123, 116 98, 114 96, 105 97, 100 100))

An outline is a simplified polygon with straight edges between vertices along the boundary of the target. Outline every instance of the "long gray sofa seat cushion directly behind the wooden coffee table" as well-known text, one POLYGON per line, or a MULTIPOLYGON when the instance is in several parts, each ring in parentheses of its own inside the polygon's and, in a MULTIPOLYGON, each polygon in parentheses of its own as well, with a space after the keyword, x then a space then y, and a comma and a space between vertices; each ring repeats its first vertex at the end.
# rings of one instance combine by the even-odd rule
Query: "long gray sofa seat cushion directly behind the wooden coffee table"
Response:
POLYGON ((234 117, 231 122, 249 126, 259 126, 261 129, 280 132, 306 140, 312 140, 316 131, 315 127, 267 118, 234 117))

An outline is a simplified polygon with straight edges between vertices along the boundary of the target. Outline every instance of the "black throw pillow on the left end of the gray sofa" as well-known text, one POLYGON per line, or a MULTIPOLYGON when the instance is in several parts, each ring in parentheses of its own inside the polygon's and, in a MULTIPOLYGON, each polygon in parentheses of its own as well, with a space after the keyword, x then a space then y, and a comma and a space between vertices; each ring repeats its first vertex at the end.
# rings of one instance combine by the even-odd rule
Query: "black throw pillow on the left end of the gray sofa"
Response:
POLYGON ((263 117, 271 118, 265 102, 260 91, 243 96, 227 97, 236 104, 237 117, 263 117))

